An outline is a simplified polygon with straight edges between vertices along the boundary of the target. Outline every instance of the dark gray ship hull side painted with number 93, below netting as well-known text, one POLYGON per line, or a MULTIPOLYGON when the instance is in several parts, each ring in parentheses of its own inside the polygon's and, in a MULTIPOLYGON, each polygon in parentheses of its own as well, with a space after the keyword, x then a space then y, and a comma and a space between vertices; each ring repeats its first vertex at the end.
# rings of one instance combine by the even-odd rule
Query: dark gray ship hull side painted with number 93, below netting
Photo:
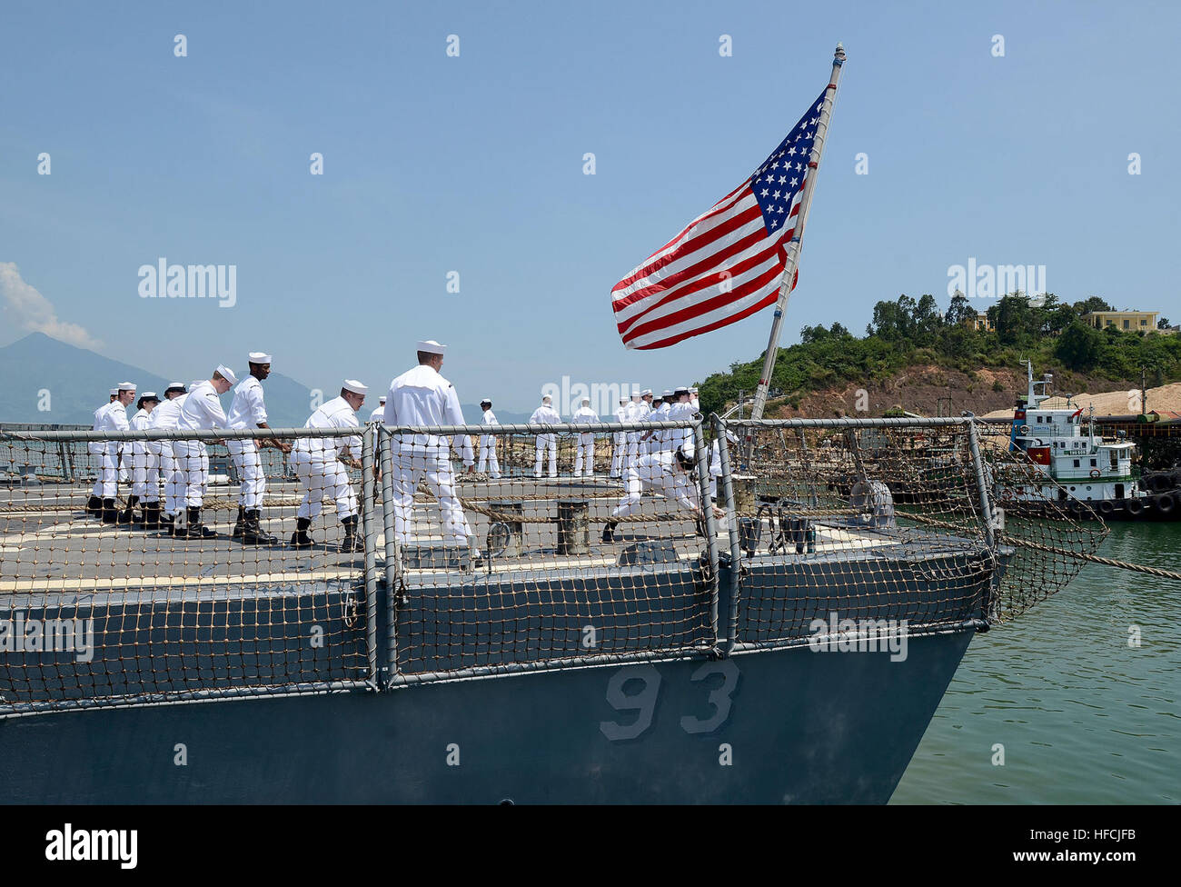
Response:
POLYGON ((885 803, 972 633, 912 638, 901 661, 805 646, 385 693, 6 718, 0 796, 71 804, 885 803), (644 693, 651 704, 637 704, 644 693))

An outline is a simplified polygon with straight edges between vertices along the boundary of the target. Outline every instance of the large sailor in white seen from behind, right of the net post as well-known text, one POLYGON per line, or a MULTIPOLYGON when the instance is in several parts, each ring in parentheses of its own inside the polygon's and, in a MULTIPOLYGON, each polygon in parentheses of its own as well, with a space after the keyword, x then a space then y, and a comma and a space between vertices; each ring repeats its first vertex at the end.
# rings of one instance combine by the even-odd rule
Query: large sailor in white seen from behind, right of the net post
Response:
MULTIPOLYGON (((433 339, 419 341, 418 366, 390 383, 385 402, 386 425, 463 425, 463 410, 455 386, 439 376, 446 346, 433 339)), ((438 501, 443 535, 470 546, 471 528, 455 491, 450 448, 459 450, 468 472, 476 470, 471 439, 442 435, 398 435, 393 439, 393 518, 399 542, 409 541, 415 490, 426 485, 438 501)))

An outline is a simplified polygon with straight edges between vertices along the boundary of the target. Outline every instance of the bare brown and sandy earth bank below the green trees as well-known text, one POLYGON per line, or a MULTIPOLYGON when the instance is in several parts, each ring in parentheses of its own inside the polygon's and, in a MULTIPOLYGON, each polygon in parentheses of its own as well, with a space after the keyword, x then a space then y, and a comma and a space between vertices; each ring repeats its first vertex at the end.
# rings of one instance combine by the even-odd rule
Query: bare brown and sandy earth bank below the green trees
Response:
MULTIPOLYGON (((990 412, 1012 415, 1013 402, 1027 387, 1025 369, 984 369, 972 373, 946 370, 929 364, 907 366, 885 381, 849 384, 814 391, 798 399, 776 400, 768 416, 777 418, 829 418, 833 416, 881 416, 890 409, 902 409, 920 416, 959 416, 971 410, 977 416, 990 412)), ((1113 381, 1085 373, 1063 372, 1055 376, 1051 393, 1075 394, 1074 403, 1098 415, 1122 415, 1138 411, 1129 402, 1129 390, 1138 393, 1140 380, 1113 381), (1082 394, 1079 392, 1108 392, 1082 394)), ((1052 405, 1052 403, 1048 404, 1052 405)), ((1181 383, 1148 390, 1149 410, 1181 411, 1181 383)))

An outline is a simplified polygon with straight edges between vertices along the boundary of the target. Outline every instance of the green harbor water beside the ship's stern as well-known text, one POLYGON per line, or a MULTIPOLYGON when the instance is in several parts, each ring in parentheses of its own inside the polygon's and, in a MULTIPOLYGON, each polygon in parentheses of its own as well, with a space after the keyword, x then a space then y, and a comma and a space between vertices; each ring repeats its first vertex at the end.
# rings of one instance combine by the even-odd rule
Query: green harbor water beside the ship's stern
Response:
MULTIPOLYGON (((1114 523, 1100 554, 1181 572, 1181 522, 1114 523)), ((976 637, 890 803, 1181 802, 1179 647, 1181 582, 1088 565, 976 637)))

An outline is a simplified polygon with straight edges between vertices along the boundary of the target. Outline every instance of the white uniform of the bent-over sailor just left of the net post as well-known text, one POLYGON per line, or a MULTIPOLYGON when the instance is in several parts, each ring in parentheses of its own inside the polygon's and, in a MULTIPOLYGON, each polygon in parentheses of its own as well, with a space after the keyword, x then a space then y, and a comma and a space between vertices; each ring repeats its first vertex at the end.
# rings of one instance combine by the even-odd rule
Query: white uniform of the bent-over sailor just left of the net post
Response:
MULTIPOLYGON (((357 429, 357 413, 342 397, 334 397, 308 416, 304 428, 357 429)), ((324 509, 324 495, 337 503, 337 517, 344 521, 357 514, 357 495, 348 482, 341 457, 361 457, 360 435, 301 437, 292 446, 291 467, 304 487, 304 501, 296 517, 314 520, 324 509)))

